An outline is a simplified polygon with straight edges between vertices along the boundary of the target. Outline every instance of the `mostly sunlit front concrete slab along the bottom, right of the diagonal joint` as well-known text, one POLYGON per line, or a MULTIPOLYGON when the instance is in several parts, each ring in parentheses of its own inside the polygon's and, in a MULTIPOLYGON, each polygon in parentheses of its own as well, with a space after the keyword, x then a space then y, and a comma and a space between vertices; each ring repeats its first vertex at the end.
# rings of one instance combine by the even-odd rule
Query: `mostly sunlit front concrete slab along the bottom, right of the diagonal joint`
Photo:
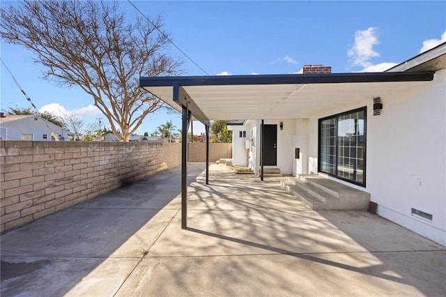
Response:
POLYGON ((148 258, 116 296, 443 296, 444 271, 420 279, 410 263, 441 262, 444 254, 415 254, 148 258))

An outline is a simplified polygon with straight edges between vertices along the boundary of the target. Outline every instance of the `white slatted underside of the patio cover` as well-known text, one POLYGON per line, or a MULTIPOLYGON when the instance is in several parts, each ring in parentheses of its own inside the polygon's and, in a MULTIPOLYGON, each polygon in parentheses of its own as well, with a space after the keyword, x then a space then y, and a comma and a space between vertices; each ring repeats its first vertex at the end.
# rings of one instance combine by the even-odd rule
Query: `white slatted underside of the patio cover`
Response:
MULTIPOLYGON (((332 84, 238 84, 183 86, 208 119, 298 119, 354 102, 385 98, 429 82, 351 82, 332 84)), ((172 86, 144 89, 178 111, 172 86)))

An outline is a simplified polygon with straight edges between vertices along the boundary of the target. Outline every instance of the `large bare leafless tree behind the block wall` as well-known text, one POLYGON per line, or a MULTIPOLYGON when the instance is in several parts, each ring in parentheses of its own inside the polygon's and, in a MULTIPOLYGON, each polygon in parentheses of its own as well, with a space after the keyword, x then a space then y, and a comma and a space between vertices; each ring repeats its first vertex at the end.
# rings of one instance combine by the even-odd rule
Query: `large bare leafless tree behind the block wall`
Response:
POLYGON ((45 78, 80 86, 123 142, 162 101, 139 87, 141 76, 178 74, 164 54, 161 18, 127 20, 116 1, 23 1, 1 8, 1 37, 33 51, 45 78), (118 133, 121 130, 121 134, 118 133))

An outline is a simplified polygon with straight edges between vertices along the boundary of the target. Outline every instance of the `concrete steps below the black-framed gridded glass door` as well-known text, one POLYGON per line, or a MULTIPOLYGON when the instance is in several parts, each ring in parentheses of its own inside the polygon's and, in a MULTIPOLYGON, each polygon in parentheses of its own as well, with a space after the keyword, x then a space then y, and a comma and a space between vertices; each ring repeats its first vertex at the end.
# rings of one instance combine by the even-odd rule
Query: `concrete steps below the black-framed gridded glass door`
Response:
POLYGON ((367 211, 370 194, 323 176, 304 174, 281 182, 314 210, 367 211))

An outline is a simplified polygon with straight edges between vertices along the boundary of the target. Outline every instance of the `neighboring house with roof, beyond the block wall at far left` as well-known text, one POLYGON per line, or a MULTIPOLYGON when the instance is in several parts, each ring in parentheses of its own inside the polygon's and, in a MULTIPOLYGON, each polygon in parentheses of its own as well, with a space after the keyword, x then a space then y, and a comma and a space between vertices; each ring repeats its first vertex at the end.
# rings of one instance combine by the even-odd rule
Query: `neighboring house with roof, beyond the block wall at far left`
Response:
POLYGON ((74 136, 40 116, 0 114, 0 139, 52 141, 55 140, 52 133, 59 141, 70 141, 70 136, 74 136))

